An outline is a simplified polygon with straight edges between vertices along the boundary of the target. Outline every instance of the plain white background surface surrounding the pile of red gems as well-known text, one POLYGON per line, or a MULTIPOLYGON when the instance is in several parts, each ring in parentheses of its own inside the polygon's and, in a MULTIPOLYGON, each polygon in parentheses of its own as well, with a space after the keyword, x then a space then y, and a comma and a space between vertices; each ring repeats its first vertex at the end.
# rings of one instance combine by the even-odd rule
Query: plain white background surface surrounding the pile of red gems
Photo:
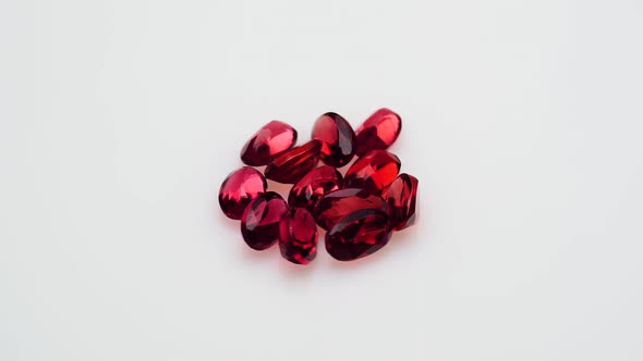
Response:
POLYGON ((0 360, 643 359, 641 1, 2 0, 0 46, 0 360), (379 107, 418 224, 248 250, 248 136, 379 107))

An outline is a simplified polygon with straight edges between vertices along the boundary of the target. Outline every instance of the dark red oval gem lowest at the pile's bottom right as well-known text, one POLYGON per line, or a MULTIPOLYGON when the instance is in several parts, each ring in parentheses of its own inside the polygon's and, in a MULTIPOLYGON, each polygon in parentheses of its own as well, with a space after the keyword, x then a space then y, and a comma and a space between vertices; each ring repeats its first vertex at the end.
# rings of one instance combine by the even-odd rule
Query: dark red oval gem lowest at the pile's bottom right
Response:
POLYGON ((391 237, 388 216, 380 210, 359 210, 326 234, 326 250, 336 260, 352 261, 386 246, 391 237))

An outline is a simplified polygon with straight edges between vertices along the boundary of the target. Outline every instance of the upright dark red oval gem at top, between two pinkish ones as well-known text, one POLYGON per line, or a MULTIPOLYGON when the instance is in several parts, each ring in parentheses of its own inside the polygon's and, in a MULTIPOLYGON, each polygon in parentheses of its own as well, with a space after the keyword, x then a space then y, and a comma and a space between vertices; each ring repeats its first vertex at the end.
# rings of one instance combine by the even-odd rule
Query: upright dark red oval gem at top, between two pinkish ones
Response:
POLYGON ((355 133, 341 115, 326 113, 313 125, 313 139, 322 141, 319 158, 336 167, 348 164, 355 153, 355 133))

